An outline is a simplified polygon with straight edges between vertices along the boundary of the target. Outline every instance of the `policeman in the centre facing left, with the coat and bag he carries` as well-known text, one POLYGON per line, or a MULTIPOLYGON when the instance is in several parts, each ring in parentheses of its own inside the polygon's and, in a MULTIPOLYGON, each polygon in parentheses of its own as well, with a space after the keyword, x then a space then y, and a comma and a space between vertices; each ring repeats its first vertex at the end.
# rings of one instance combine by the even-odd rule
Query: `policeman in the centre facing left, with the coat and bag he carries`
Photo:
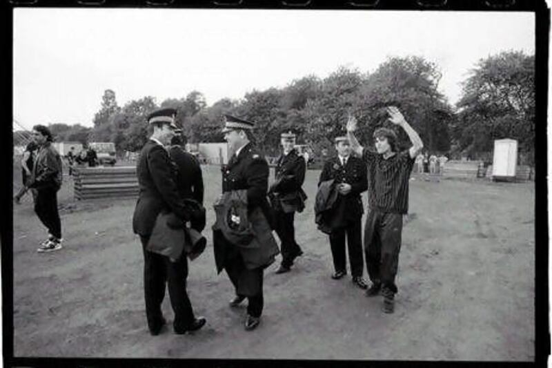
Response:
POLYGON ((269 226, 270 204, 266 200, 268 162, 250 142, 253 126, 244 119, 225 116, 222 133, 232 157, 222 167, 222 195, 215 204, 217 224, 213 226, 217 271, 225 269, 235 289, 230 307, 238 307, 248 298, 246 331, 257 328, 261 322, 264 269, 279 253, 269 226), (241 204, 239 208, 232 204, 237 201, 241 204), (242 236, 242 231, 239 231, 245 222, 254 230, 252 237, 242 236), (237 231, 239 234, 236 235, 237 231))

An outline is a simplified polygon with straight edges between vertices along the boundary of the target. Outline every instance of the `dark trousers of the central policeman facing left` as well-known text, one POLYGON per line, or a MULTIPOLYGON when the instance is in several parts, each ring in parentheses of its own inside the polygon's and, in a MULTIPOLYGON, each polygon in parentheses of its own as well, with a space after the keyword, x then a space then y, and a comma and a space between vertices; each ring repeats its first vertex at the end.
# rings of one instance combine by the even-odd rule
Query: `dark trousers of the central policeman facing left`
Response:
POLYGON ((248 299, 247 313, 253 317, 260 317, 264 307, 263 296, 263 269, 247 269, 244 258, 231 246, 226 254, 224 269, 234 285, 237 296, 246 296, 248 299))

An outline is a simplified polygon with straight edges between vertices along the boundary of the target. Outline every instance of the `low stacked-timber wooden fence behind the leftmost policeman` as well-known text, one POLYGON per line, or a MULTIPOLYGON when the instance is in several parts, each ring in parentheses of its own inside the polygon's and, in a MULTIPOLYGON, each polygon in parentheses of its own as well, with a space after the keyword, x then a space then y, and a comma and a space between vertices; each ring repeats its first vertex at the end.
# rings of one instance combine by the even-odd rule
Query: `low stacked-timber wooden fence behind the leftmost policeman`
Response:
POLYGON ((135 166, 75 167, 74 173, 76 200, 138 195, 135 166))

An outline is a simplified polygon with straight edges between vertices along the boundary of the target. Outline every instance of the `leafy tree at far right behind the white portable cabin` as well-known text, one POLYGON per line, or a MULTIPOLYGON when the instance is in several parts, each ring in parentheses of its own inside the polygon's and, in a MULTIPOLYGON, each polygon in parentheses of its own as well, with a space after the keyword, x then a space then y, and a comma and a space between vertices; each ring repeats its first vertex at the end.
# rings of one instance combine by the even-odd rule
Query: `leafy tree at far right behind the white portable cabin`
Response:
POLYGON ((535 57, 520 51, 481 59, 464 81, 452 135, 466 153, 492 151, 495 139, 517 139, 533 153, 535 57))

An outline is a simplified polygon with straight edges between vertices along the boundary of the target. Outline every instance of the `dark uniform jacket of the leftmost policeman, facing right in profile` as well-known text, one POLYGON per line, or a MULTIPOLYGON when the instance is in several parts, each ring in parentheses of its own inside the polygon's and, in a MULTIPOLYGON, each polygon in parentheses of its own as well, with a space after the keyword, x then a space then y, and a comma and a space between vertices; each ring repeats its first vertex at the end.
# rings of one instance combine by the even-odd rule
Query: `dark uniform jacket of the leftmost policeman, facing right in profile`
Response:
POLYGON ((163 146, 151 139, 146 142, 140 152, 136 175, 139 195, 132 217, 135 233, 149 236, 161 211, 173 212, 183 222, 190 220, 190 211, 177 190, 176 173, 163 146))

